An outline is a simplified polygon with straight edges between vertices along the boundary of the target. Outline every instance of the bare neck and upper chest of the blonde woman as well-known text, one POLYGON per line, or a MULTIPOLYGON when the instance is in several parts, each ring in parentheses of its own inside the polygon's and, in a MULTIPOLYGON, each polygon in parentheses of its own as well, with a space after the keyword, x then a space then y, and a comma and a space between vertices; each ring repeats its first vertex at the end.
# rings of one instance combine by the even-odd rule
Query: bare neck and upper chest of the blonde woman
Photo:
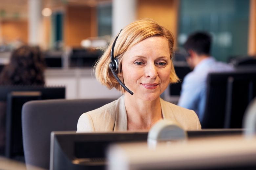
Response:
POLYGON ((124 102, 128 130, 150 129, 162 118, 160 97, 153 101, 145 101, 125 95, 124 102))

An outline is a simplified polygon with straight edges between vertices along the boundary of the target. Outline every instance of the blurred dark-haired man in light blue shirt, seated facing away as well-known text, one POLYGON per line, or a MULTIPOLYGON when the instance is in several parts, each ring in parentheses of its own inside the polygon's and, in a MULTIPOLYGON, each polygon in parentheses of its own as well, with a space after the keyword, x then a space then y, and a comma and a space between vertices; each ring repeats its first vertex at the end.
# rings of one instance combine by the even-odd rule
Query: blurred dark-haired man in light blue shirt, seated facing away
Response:
POLYGON ((187 63, 193 69, 182 82, 178 106, 194 110, 202 121, 206 100, 206 79, 209 72, 232 71, 233 67, 216 61, 210 55, 211 36, 205 32, 191 34, 184 43, 187 63))

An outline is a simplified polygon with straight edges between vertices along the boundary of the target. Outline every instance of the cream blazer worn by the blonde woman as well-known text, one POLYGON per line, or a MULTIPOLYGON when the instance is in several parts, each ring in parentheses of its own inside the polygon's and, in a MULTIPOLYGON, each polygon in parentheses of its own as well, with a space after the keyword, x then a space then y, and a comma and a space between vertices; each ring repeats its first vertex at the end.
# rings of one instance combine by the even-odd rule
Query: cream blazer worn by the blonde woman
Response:
MULTIPOLYGON (((160 98, 163 119, 178 122, 184 130, 200 130, 197 114, 160 98)), ((98 109, 83 113, 77 123, 76 132, 103 132, 127 130, 127 114, 124 96, 98 109)))

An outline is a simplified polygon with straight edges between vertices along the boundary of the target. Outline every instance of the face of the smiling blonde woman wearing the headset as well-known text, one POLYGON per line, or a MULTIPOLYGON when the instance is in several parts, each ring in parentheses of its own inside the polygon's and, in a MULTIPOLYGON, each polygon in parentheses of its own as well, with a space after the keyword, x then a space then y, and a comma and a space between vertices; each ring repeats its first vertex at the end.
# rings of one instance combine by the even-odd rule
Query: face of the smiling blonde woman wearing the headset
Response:
MULTIPOLYGON (((152 101, 169 84, 171 58, 165 37, 149 37, 124 53, 122 59, 124 84, 134 96, 152 101)), ((130 95, 125 91, 125 94, 130 95)))

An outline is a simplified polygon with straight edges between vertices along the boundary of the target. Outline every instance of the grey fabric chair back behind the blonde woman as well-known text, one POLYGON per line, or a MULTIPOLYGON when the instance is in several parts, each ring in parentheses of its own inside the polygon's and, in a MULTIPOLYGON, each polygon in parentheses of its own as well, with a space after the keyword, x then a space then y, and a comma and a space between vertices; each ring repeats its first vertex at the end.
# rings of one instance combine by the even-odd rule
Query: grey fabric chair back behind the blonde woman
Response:
POLYGON ((79 116, 115 99, 53 99, 30 101, 22 108, 22 135, 26 164, 49 169, 50 134, 76 130, 79 116))

